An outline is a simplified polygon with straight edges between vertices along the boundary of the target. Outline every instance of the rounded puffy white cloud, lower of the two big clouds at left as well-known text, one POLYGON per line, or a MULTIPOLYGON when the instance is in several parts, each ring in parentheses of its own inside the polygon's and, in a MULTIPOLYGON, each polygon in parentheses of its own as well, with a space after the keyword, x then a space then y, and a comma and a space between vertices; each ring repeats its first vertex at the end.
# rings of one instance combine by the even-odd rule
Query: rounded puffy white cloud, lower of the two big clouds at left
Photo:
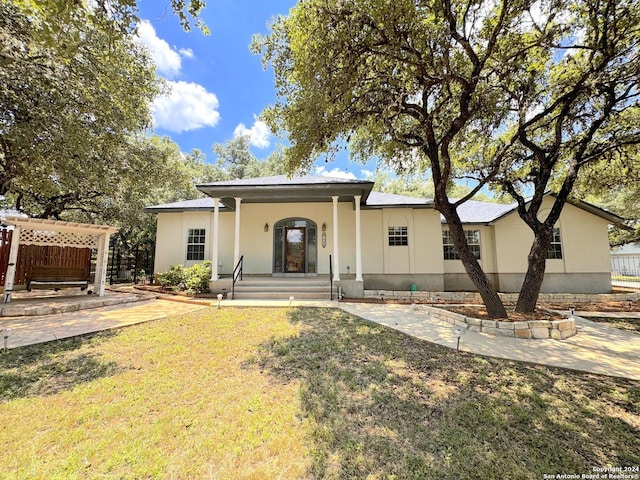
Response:
POLYGON ((168 83, 171 91, 157 97, 152 106, 156 127, 180 133, 218 123, 218 98, 213 93, 197 83, 168 83))

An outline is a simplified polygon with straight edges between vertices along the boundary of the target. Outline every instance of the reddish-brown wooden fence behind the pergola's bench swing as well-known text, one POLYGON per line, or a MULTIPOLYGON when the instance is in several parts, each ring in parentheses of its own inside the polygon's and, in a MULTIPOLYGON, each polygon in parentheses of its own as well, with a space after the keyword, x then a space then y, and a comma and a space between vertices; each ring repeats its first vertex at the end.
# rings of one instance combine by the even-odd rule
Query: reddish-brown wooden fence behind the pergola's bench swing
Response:
MULTIPOLYGON (((0 286, 4 286, 13 230, 0 229, 0 286)), ((14 285, 25 285, 27 276, 35 266, 83 267, 91 269, 91 249, 76 247, 55 247, 41 245, 20 245, 14 285)))

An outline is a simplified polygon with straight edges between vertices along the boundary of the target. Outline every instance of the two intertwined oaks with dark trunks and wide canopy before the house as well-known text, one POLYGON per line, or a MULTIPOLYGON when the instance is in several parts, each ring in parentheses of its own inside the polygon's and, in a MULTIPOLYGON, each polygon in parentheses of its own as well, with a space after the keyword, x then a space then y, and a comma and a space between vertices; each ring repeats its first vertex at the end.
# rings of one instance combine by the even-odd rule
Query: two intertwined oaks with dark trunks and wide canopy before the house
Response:
POLYGON ((357 158, 428 169, 435 208, 494 317, 505 309, 456 208, 485 185, 508 192, 534 233, 519 301, 532 309, 553 224, 580 168, 638 142, 639 8, 619 0, 301 2, 254 39, 279 96, 264 117, 291 142, 290 171, 345 142, 357 158), (452 200, 447 189, 460 179, 474 187, 452 200), (540 220, 554 182, 556 205, 540 220))

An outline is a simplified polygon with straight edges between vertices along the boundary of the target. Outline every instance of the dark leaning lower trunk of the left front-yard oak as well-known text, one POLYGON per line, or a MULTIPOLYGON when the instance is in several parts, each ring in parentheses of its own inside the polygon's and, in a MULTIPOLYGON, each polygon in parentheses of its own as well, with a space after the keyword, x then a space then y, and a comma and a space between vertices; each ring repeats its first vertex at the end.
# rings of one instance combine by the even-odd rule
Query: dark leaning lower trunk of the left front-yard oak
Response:
POLYGON ((442 208, 442 210, 445 210, 441 212, 447 219, 451 239, 456 247, 456 253, 460 257, 467 275, 478 290, 480 297, 482 297, 482 301, 487 309, 487 314, 491 318, 507 318, 507 311, 498 296, 498 292, 489 281, 489 278, 482 270, 482 267, 467 244, 464 228, 455 208, 447 202, 447 205, 442 208))

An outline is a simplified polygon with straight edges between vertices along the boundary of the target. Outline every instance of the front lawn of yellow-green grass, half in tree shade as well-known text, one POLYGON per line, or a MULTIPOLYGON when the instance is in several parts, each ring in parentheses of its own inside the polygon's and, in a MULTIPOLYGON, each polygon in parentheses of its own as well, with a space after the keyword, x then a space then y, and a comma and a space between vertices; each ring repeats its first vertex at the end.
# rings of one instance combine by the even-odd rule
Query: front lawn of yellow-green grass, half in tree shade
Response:
POLYGON ((541 479, 640 465, 640 382, 331 309, 207 309, 0 355, 0 478, 541 479))

